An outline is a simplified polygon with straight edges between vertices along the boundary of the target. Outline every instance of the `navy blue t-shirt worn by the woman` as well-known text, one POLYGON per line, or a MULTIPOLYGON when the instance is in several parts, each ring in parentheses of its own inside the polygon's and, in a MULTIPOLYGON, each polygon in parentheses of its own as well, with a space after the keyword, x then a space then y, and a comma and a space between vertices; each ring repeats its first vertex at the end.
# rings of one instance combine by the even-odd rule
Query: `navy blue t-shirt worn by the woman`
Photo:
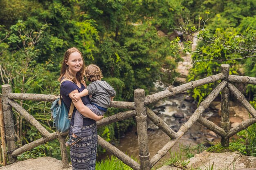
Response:
MULTIPOLYGON (((61 97, 62 97, 64 103, 66 104, 68 110, 70 110, 70 105, 72 102, 72 99, 69 97, 69 94, 74 90, 78 90, 78 92, 80 93, 84 89, 85 89, 85 86, 83 84, 81 84, 81 88, 79 88, 79 86, 77 86, 74 82, 70 82, 70 81, 64 81, 61 84, 61 89, 60 89, 61 97)), ((81 97, 81 100, 84 105, 91 103, 89 96, 81 97)), ((74 125, 74 115, 76 113, 76 110, 77 110, 76 107, 74 107, 74 111, 73 111, 73 115, 72 115, 72 119, 71 119, 72 125, 74 125)), ((83 118, 83 126, 88 126, 93 123, 95 123, 95 120, 90 119, 90 118, 83 118)))

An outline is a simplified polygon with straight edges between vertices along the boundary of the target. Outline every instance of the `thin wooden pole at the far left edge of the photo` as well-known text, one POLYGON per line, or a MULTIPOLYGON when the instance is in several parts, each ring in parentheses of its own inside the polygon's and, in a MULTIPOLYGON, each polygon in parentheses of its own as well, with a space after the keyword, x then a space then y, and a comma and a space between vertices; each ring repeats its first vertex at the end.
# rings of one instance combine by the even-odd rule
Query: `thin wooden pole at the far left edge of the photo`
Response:
POLYGON ((0 131, 1 131, 1 150, 2 150, 2 163, 4 166, 7 165, 7 152, 5 143, 5 133, 4 133, 4 115, 2 111, 2 97, 0 97, 0 131))

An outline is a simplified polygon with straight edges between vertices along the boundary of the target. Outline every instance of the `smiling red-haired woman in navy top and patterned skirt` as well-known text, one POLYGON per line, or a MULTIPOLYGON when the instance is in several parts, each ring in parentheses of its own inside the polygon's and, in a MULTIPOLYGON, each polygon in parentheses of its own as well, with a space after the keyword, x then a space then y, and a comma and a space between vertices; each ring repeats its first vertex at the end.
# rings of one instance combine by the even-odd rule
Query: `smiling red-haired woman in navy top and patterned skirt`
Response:
MULTIPOLYGON (((82 53, 76 49, 68 49, 64 54, 64 59, 61 66, 61 75, 59 81, 63 78, 68 78, 71 81, 64 81, 61 84, 60 92, 67 109, 70 109, 72 97, 75 93, 80 93, 86 87, 83 73, 85 65, 82 53)), ((86 104, 90 103, 88 96, 81 97, 79 101, 74 103, 74 111, 71 119, 70 133, 74 125, 74 115, 79 112, 86 118, 83 119, 83 128, 81 132, 81 140, 70 147, 70 157, 73 170, 94 170, 97 155, 97 127, 96 121, 103 116, 94 114, 86 104)))

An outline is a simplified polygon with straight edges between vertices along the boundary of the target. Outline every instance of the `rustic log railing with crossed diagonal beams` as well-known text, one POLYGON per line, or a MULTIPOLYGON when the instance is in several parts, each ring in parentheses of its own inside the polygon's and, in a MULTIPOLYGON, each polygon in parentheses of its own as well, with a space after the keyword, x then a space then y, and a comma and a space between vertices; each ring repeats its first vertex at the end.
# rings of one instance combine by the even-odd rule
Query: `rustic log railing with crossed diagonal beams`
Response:
MULTIPOLYGON (((120 112, 115 115, 103 118, 97 122, 97 126, 104 126, 116 121, 124 120, 129 117, 135 116, 137 121, 137 132, 138 132, 138 145, 139 145, 139 159, 140 164, 133 160, 131 157, 126 155, 124 152, 105 141, 103 138, 98 136, 99 145, 106 148, 109 152, 115 155, 118 159, 126 163, 134 170, 150 170, 166 153, 172 148, 172 146, 179 141, 179 139, 191 128, 191 126, 198 121, 203 126, 215 132, 221 137, 221 145, 229 146, 229 138, 235 135, 237 132, 244 130, 248 126, 256 123, 256 110, 249 104, 245 99, 244 95, 238 91, 238 89, 231 84, 232 82, 244 83, 244 84, 256 84, 255 77, 229 75, 229 65, 221 65, 221 73, 212 75, 204 79, 199 79, 193 82, 182 84, 177 87, 168 87, 165 91, 155 93, 153 95, 145 96, 143 89, 136 89, 134 91, 134 102, 111 102, 111 107, 115 108, 126 108, 130 109, 126 112, 120 112), (146 107, 146 105, 171 97, 173 95, 183 93, 193 88, 213 83, 221 80, 220 84, 200 103, 198 108, 195 110, 193 115, 183 124, 177 132, 174 132, 160 117, 158 117, 152 110, 146 107), (221 122, 220 127, 213 122, 202 117, 202 113, 206 108, 209 107, 211 102, 221 92, 221 122), (232 92, 237 100, 245 106, 248 112, 252 115, 252 118, 243 121, 234 128, 230 129, 229 121, 229 93, 232 92), (147 118, 153 121, 153 123, 163 130, 171 139, 160 149, 157 154, 153 155, 150 159, 150 153, 148 149, 148 135, 147 135, 147 118)), ((22 108, 13 99, 22 100, 37 100, 37 101, 48 101, 53 102, 57 97, 54 95, 41 95, 41 94, 26 94, 26 93, 11 93, 10 85, 2 85, 3 94, 3 113, 4 113, 4 124, 6 131, 6 141, 8 148, 8 159, 9 163, 13 163, 16 157, 23 152, 31 150, 36 146, 45 144, 47 141, 58 138, 61 146, 61 156, 63 161, 63 167, 67 168, 68 158, 67 150, 65 146, 66 133, 59 132, 48 132, 32 115, 30 115, 24 108, 22 108), (32 124, 42 135, 41 139, 37 139, 29 144, 26 144, 18 149, 15 146, 15 134, 14 134, 14 122, 12 107, 20 113, 30 124, 32 124)))

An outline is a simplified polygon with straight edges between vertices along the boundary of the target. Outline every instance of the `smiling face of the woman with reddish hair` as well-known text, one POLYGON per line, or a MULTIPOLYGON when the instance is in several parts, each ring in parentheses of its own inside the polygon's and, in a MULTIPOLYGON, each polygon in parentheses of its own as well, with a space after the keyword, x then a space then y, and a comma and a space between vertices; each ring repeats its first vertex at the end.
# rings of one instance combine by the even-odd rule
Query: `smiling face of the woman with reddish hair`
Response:
POLYGON ((68 65, 70 73, 72 73, 74 76, 83 66, 82 56, 79 52, 71 53, 68 60, 65 60, 65 62, 68 65))

